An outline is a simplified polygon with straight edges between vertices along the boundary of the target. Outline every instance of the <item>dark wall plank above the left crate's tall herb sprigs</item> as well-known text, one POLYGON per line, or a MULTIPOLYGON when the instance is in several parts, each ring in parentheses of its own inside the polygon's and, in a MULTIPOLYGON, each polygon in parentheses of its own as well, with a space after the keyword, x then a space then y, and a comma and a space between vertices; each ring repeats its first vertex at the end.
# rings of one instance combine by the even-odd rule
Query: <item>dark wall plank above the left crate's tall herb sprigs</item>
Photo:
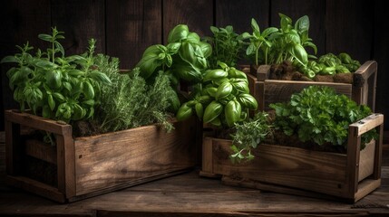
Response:
POLYGON ((52 24, 64 32, 66 55, 87 51, 89 40, 94 38, 96 52, 105 52, 104 0, 52 1, 52 24))

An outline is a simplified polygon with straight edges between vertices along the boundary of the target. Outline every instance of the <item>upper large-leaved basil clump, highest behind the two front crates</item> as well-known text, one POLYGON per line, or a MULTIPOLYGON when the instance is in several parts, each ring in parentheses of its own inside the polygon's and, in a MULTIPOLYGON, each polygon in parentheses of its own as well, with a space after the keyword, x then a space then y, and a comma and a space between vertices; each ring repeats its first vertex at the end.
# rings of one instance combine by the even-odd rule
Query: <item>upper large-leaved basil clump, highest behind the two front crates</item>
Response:
POLYGON ((168 44, 148 47, 136 67, 146 80, 164 71, 170 75, 173 86, 179 80, 196 83, 201 80, 202 71, 209 67, 207 58, 211 52, 212 47, 208 42, 201 42, 199 34, 190 32, 186 24, 178 24, 170 31, 168 44))

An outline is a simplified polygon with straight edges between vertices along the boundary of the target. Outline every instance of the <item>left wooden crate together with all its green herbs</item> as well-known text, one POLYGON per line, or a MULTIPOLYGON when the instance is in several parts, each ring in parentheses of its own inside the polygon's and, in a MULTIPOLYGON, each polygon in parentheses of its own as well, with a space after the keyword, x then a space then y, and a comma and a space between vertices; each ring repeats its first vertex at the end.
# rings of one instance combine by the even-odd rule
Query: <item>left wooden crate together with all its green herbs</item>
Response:
POLYGON ((8 184, 65 203, 196 165, 198 125, 172 118, 168 75, 122 74, 119 59, 94 53, 94 40, 66 56, 56 28, 39 38, 50 42, 46 51, 32 54, 27 43, 2 60, 17 64, 7 76, 21 105, 5 111, 8 184))

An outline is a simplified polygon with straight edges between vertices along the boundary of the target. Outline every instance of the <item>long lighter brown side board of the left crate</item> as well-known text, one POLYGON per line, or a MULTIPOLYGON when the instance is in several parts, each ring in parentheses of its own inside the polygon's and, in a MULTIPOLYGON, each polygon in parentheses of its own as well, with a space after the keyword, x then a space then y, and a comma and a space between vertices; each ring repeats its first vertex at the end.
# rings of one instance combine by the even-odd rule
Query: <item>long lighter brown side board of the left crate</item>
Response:
POLYGON ((176 123, 170 133, 147 126, 75 139, 77 195, 194 166, 195 121, 190 120, 176 123))

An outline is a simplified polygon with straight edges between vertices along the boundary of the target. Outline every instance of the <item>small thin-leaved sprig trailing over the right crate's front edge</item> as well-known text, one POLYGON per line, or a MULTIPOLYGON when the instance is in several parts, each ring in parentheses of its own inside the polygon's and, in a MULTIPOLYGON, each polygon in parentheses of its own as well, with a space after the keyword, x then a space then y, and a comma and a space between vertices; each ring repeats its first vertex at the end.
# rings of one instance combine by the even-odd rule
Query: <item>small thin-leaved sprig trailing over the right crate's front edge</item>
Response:
POLYGON ((236 132, 231 134, 233 154, 230 158, 233 162, 254 159, 251 150, 257 148, 258 144, 273 131, 273 127, 268 123, 267 116, 266 112, 258 112, 253 118, 235 124, 236 132))

